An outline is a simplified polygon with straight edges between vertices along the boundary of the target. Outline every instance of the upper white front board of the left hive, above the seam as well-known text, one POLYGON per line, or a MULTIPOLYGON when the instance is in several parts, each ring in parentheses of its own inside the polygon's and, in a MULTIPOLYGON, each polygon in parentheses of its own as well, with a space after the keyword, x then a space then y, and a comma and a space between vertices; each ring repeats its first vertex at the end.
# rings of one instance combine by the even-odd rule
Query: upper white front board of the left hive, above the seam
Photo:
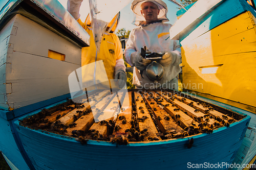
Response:
POLYGON ((9 42, 14 44, 13 51, 47 57, 52 50, 65 54, 65 61, 81 65, 81 48, 22 15, 14 18, 12 33, 16 35, 11 35, 9 42))

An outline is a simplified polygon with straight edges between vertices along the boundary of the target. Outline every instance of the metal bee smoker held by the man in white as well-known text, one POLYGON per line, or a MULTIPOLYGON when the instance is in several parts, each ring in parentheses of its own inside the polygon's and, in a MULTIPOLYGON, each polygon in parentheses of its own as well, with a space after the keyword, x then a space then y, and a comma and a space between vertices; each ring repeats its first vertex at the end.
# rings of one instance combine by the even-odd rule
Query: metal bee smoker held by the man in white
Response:
MULTIPOLYGON (((162 59, 163 55, 159 53, 146 54, 146 46, 144 46, 144 48, 141 48, 141 56, 148 60, 155 60, 146 67, 146 75, 150 80, 154 81, 154 83, 157 84, 158 80, 160 80, 163 77, 164 73, 163 66, 159 64, 157 61, 159 59, 162 59)), ((143 70, 140 71, 140 75, 143 78, 142 74, 143 70)))

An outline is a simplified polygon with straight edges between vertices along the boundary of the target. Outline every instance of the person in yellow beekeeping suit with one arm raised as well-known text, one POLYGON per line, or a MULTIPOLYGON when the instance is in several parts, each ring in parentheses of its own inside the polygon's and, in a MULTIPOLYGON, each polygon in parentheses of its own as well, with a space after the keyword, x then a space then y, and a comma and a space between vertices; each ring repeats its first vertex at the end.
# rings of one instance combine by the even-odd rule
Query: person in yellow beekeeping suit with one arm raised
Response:
POLYGON ((93 39, 89 14, 84 22, 80 19, 79 9, 82 1, 83 0, 68 0, 67 4, 67 10, 90 35, 90 46, 82 48, 81 64, 84 66, 95 61, 103 60, 108 79, 123 80, 118 82, 119 87, 122 88, 126 82, 123 51, 118 36, 113 34, 119 22, 120 12, 109 23, 102 37, 100 53, 98 53, 93 39))

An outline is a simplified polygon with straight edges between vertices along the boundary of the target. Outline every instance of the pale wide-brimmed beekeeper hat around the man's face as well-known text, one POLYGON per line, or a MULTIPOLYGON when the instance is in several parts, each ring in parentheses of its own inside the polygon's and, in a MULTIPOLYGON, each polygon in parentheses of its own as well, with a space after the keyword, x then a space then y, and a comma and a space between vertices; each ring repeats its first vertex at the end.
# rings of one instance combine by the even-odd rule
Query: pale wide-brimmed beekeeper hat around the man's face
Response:
POLYGON ((167 22, 169 19, 166 17, 167 14, 167 5, 161 0, 134 0, 131 4, 131 10, 134 12, 134 21, 133 24, 136 26, 140 25, 141 21, 145 21, 144 16, 141 14, 141 5, 145 2, 152 2, 158 6, 160 10, 158 14, 158 19, 162 20, 162 22, 167 22))

